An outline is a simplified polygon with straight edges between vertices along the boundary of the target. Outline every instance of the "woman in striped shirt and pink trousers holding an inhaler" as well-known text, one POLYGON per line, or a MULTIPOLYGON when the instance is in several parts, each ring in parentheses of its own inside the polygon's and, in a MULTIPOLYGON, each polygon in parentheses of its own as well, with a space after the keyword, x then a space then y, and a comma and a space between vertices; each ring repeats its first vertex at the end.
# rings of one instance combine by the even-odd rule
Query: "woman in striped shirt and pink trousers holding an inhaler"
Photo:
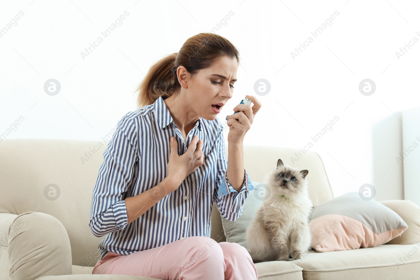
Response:
POLYGON ((261 103, 247 96, 252 107, 234 108, 229 161, 216 118, 215 105, 233 96, 238 65, 231 42, 200 33, 150 68, 137 89, 139 108, 121 118, 103 154, 89 226, 106 237, 92 274, 257 279, 244 247, 210 238, 213 202, 234 221, 255 189, 243 139, 261 103))

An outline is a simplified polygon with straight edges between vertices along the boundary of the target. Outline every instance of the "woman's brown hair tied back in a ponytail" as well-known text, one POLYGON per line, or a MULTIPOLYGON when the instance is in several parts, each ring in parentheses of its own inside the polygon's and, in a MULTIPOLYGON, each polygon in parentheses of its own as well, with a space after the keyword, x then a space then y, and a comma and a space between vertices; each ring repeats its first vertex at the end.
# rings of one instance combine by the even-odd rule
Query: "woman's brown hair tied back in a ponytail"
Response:
POLYGON ((226 38, 213 33, 199 33, 190 37, 179 52, 160 59, 150 67, 135 91, 139 92, 137 106, 150 105, 160 96, 166 99, 180 89, 176 76, 180 65, 194 76, 200 69, 210 67, 225 55, 236 58, 239 64, 239 51, 226 38))

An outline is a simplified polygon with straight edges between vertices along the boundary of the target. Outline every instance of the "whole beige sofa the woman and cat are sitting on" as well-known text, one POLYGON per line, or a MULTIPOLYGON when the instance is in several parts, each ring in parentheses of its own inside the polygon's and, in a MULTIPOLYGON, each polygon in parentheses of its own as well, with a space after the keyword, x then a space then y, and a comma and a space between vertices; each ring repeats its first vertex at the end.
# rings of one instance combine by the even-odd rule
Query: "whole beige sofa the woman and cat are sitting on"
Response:
MULTIPOLYGON (((95 237, 89 228, 90 203, 107 144, 53 139, 0 143, 0 280, 154 279, 91 274, 103 237, 95 237)), ((247 146, 244 152, 250 178, 262 182, 278 158, 291 164, 288 159, 298 150, 247 146)), ((307 152, 294 166, 310 170, 314 205, 333 198, 318 154, 307 152)), ((211 238, 226 241, 218 209, 213 209, 211 238)), ((418 251, 416 244, 312 251, 299 260, 255 266, 264 280, 419 279, 420 252, 410 253, 416 247, 418 251)))

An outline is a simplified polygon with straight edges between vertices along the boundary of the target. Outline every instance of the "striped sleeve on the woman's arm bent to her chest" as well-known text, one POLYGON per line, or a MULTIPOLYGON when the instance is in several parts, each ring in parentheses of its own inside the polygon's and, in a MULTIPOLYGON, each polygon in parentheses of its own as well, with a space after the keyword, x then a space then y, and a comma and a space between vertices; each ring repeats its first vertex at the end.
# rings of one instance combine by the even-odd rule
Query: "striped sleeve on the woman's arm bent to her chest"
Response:
POLYGON ((134 183, 137 149, 136 123, 128 115, 118 121, 118 126, 103 153, 104 161, 93 189, 89 227, 97 236, 104 236, 127 226, 125 198, 134 183))

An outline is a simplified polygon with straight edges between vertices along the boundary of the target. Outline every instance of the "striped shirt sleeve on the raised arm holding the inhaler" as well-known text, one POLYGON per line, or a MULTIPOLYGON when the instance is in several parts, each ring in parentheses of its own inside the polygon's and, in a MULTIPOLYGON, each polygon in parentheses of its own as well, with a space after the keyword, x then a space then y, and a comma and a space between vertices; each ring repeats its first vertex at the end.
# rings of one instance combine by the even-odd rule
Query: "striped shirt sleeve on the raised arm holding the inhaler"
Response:
POLYGON ((221 125, 216 139, 216 149, 218 153, 217 173, 213 201, 216 203, 223 218, 234 221, 242 215, 244 202, 247 199, 249 191, 255 190, 256 188, 252 186, 251 179, 246 170, 244 170, 245 180, 239 192, 229 183, 226 176, 228 160, 226 158, 225 139, 221 125))

